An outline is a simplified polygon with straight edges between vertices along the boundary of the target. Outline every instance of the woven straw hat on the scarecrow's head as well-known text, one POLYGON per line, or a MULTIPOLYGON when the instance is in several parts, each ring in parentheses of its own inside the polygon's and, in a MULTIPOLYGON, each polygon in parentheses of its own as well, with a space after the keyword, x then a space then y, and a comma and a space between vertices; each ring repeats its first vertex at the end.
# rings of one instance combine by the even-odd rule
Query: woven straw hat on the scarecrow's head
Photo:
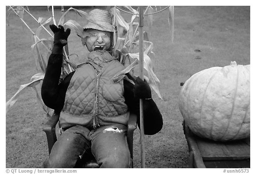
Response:
POLYGON ((111 23, 112 18, 109 12, 100 9, 94 9, 89 12, 89 15, 96 21, 97 24, 88 22, 84 26, 84 29, 92 28, 101 31, 114 32, 114 28, 111 23))

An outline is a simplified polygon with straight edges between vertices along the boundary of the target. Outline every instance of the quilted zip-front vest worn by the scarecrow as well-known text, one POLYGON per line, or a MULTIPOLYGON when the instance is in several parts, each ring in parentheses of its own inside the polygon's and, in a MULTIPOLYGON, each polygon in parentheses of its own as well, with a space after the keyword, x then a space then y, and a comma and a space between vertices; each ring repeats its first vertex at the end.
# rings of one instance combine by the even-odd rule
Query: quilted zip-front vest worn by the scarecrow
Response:
POLYGON ((88 128, 114 123, 127 125, 129 113, 124 100, 124 82, 114 82, 124 66, 107 51, 93 51, 88 62, 78 67, 68 86, 60 128, 88 128))

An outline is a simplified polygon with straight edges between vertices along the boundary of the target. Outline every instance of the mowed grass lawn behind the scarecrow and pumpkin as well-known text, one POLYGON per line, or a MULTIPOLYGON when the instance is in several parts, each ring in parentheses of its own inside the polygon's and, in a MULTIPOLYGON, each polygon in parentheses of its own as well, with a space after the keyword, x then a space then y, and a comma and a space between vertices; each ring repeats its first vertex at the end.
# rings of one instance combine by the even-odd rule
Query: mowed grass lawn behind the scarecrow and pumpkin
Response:
MULTIPOLYGON (((103 8, 103 7, 100 7, 103 8)), ((67 9, 67 8, 66 8, 67 9)), ((183 118, 178 108, 180 82, 186 81, 194 73, 213 66, 227 66, 231 61, 250 64, 250 7, 175 7, 174 41, 170 43, 167 11, 153 16, 152 42, 154 72, 161 82, 164 101, 156 93, 153 98, 163 115, 164 126, 156 135, 145 136, 145 158, 148 168, 188 167, 188 145, 182 129, 183 118)), ((89 12, 90 8, 82 8, 89 12)), ((36 17, 51 16, 47 7, 31 7, 36 17)), ((8 16, 9 12, 6 12, 8 16)), ((131 15, 122 13, 127 21, 131 15)), ((60 9, 55 10, 56 21, 60 19, 60 9)), ((38 25, 25 15, 25 20, 33 31, 38 25)), ((72 12, 68 19, 83 23, 72 12)), ((144 28, 148 31, 147 18, 144 28)), ((47 26, 49 29, 49 27, 47 26)), ((20 85, 28 83, 37 73, 30 46, 32 34, 14 14, 6 21, 6 101, 20 85)), ((43 34, 42 37, 49 35, 43 34)), ((42 38, 40 37, 40 38, 42 38)), ((69 53, 76 63, 83 62, 88 51, 81 45, 75 33, 69 39, 69 53)), ((45 122, 43 109, 36 102, 32 89, 25 90, 6 114, 6 167, 40 168, 48 158, 46 136, 42 131, 45 122)), ((140 131, 134 135, 134 167, 140 167, 140 131)))

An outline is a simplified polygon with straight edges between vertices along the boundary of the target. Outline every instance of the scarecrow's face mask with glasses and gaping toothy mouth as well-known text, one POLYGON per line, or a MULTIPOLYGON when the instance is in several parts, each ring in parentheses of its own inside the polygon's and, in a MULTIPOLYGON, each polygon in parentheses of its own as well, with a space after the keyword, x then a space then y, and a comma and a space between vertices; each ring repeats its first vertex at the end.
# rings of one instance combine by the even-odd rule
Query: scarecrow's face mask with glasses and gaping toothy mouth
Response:
POLYGON ((88 29, 85 44, 90 52, 95 50, 109 50, 111 47, 111 32, 88 29))

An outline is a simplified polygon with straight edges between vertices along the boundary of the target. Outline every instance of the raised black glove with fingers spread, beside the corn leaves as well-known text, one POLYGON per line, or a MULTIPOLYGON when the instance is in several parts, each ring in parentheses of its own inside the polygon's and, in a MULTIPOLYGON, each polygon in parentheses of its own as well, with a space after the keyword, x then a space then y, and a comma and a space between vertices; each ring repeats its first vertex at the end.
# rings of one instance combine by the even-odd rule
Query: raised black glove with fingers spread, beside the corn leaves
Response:
POLYGON ((56 25, 53 24, 50 25, 50 28, 54 34, 52 53, 62 54, 63 46, 65 46, 68 43, 70 28, 67 28, 67 30, 64 31, 64 27, 62 25, 59 25, 57 27, 56 25))

